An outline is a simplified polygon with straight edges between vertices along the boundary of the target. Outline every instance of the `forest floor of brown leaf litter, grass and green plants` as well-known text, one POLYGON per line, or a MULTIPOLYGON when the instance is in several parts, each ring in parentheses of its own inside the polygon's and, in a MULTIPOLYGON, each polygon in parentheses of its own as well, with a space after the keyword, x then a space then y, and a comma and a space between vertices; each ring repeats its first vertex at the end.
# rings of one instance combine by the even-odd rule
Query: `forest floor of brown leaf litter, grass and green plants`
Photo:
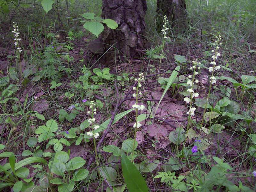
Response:
MULTIPOLYGON (((150 2, 149 12, 154 10, 150 2)), ((240 4, 234 2, 213 10, 205 2, 195 15, 192 6, 197 6, 188 3, 193 26, 185 34, 167 34, 163 59, 163 37, 148 13, 146 37, 152 48, 140 58, 115 60, 110 66, 90 51, 95 37, 73 14, 61 17, 62 24, 60 18, 53 22, 53 13, 39 19, 29 18, 35 15, 32 8, 22 10, 29 22, 14 18, 22 39, 20 58, 12 25, 3 22, 0 188, 128 191, 124 153, 151 191, 255 191, 256 18, 252 10, 235 9, 240 4), (225 12, 229 5, 232 13, 225 12), (220 69, 211 85, 211 50, 219 35, 220 69), (192 95, 187 91, 192 61, 200 62, 193 86, 199 96, 190 98, 196 113, 189 118, 191 106, 184 97, 192 95), (133 87, 141 73, 145 80, 136 101, 133 87), (145 109, 136 110, 135 102, 145 109), (92 108, 95 116, 88 113, 92 108), (93 128, 89 118, 99 125, 97 138, 87 134, 93 128), (135 131, 136 120, 141 126, 135 131)))

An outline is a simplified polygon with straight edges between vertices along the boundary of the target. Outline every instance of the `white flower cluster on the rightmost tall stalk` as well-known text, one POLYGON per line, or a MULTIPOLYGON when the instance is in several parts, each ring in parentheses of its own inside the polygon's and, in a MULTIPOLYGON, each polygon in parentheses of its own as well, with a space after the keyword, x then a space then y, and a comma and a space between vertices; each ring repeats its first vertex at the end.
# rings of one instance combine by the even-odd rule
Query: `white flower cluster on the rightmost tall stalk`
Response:
POLYGON ((217 66, 216 60, 218 60, 218 57, 220 57, 220 53, 218 52, 218 50, 220 49, 219 45, 221 45, 222 43, 221 41, 221 36, 219 37, 215 37, 215 43, 213 44, 213 46, 215 46, 215 49, 212 50, 212 53, 214 55, 212 55, 212 62, 210 63, 212 65, 212 67, 209 67, 209 72, 212 72, 212 75, 210 77, 210 82, 211 84, 216 84, 216 78, 213 76, 214 71, 220 69, 220 66, 217 66))

